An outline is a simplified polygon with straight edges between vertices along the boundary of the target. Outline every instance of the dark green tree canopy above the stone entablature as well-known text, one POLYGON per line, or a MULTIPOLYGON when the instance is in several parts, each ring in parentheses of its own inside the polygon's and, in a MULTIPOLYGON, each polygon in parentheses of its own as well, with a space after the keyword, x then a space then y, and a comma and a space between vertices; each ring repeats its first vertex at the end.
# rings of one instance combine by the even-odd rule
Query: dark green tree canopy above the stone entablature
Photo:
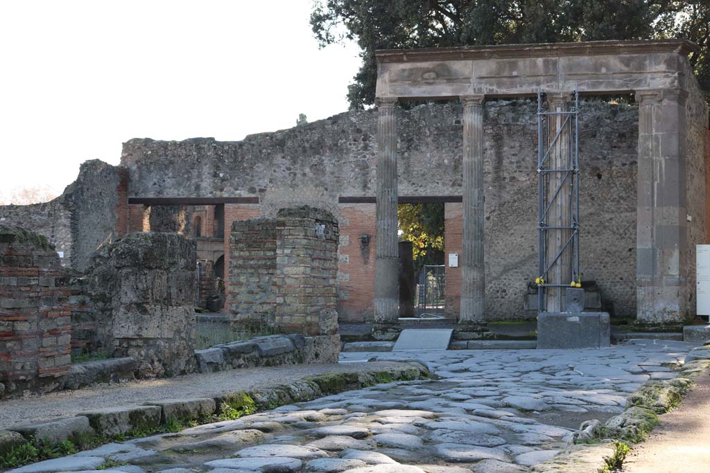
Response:
POLYGON ((321 46, 361 48, 351 108, 373 104, 374 52, 395 48, 685 38, 701 48, 690 62, 710 91, 708 0, 316 0, 310 23, 321 46))

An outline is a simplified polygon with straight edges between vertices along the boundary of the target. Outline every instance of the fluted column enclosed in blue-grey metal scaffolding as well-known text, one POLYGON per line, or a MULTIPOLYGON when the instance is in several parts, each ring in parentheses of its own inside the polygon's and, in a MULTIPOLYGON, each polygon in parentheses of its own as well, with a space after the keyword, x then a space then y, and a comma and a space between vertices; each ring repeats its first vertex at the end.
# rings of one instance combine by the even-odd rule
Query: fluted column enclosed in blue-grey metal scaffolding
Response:
MULTIPOLYGON (((569 94, 566 92, 552 92, 547 94, 548 110, 551 112, 567 111, 567 102, 569 94)), ((569 128, 565 124, 567 115, 548 115, 547 116, 547 131, 548 143, 547 148, 550 149, 550 154, 547 156, 547 161, 544 167, 546 169, 571 169, 569 152, 569 128), (559 137, 555 137, 559 133, 559 137), (554 143, 553 143, 553 140, 554 143)), ((550 204, 552 196, 555 195, 557 187, 562 184, 562 189, 559 190, 557 197, 550 206, 547 213, 547 225, 550 227, 567 227, 572 222, 572 214, 570 211, 569 199, 569 183, 570 177, 565 172, 550 172, 547 174, 549 179, 549 191, 546 204, 550 204)), ((563 245, 569 240, 572 234, 571 230, 549 230, 547 232, 547 264, 549 265, 555 256, 562 249, 563 245)), ((552 265, 550 272, 545 278, 547 284, 564 284, 569 285, 572 282, 572 247, 567 248, 560 255, 559 260, 552 265)), ((546 312, 564 312, 564 287, 548 287, 546 299, 546 312)))

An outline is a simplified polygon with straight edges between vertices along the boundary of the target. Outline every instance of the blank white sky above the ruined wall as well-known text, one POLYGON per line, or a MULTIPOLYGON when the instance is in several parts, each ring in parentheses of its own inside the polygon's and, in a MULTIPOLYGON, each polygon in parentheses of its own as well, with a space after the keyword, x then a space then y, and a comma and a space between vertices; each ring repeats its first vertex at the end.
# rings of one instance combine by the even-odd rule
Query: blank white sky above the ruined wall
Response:
POLYGON ((0 1, 0 200, 131 138, 241 140, 347 109, 359 49, 319 50, 311 0, 0 1))

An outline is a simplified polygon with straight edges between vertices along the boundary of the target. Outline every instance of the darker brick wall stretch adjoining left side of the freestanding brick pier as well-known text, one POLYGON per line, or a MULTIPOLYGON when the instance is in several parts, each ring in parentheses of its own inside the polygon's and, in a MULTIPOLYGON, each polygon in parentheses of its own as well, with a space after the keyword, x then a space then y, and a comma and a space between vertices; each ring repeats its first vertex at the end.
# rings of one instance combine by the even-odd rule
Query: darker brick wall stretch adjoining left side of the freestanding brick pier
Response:
MULTIPOLYGON (((276 222, 234 221, 229 233, 226 308, 244 325, 273 326, 276 295, 276 222)), ((226 253, 225 253, 226 259, 226 253)))

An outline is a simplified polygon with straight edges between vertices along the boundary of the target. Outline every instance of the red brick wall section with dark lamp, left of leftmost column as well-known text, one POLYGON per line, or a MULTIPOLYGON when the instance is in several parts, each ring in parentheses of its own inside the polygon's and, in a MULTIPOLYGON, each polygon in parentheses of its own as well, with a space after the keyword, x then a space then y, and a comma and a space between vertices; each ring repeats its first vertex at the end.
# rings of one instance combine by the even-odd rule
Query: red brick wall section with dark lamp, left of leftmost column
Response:
POLYGON ((375 204, 342 204, 338 247, 338 318, 372 318, 375 291, 375 204), (367 235, 365 241, 362 235, 367 235))

